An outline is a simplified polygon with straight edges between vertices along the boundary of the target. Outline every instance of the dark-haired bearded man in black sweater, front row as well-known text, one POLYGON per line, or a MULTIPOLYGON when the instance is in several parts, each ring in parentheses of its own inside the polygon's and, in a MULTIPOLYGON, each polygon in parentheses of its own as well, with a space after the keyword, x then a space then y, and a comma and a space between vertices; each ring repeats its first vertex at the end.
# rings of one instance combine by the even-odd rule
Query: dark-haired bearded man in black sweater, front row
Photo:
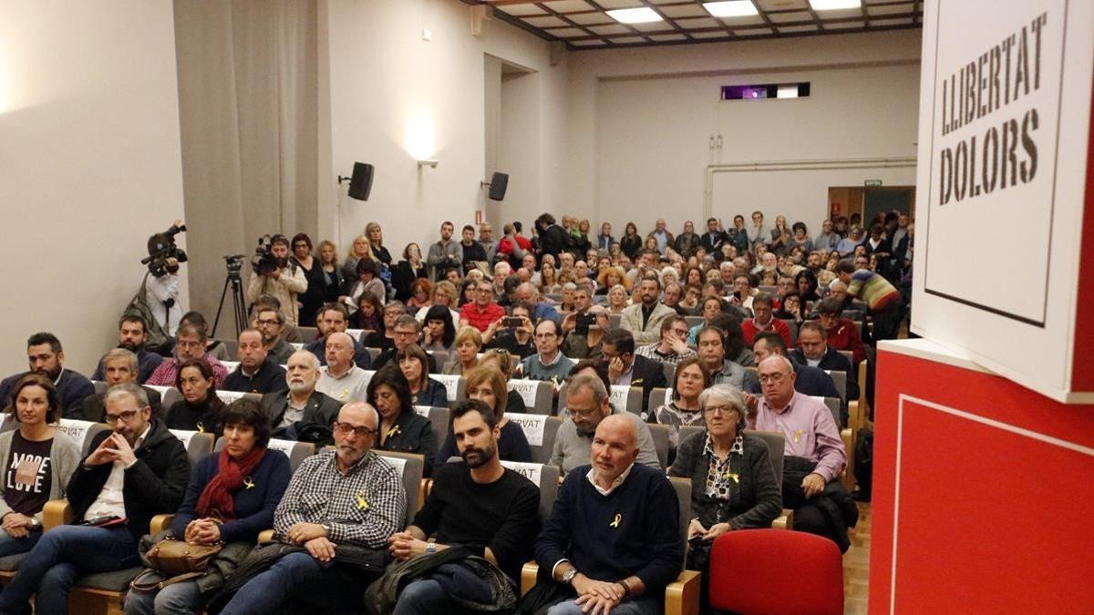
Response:
MULTIPOLYGON (((414 524, 388 539, 392 555, 406 560, 454 546, 497 566, 520 587, 521 566, 532 557, 539 531, 539 489, 501 465, 501 428, 489 406, 467 399, 452 411, 452 433, 463 463, 439 466, 433 489, 414 524), (427 543, 437 533, 435 543, 427 543)), ((420 577, 399 595, 394 615, 459 611, 440 581, 420 577)))

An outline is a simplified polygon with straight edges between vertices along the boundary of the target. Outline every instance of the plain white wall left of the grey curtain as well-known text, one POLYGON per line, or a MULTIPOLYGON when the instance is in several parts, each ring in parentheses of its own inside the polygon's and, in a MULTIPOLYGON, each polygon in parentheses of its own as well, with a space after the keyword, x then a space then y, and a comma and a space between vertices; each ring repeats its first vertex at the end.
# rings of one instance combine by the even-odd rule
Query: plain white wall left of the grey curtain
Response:
POLYGON ((0 373, 51 330, 90 375, 183 217, 172 24, 170 0, 0 4, 0 373))

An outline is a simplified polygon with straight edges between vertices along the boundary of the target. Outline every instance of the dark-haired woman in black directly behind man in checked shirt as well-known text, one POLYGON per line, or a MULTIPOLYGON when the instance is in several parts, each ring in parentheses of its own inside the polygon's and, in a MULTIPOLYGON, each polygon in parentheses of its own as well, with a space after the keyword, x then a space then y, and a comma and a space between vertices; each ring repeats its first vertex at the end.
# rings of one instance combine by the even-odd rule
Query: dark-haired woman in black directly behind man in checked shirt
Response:
POLYGON ((380 411, 376 449, 422 455, 423 475, 429 476, 437 453, 437 433, 429 419, 415 411, 410 384, 403 372, 395 365, 377 370, 369 381, 366 398, 380 411))

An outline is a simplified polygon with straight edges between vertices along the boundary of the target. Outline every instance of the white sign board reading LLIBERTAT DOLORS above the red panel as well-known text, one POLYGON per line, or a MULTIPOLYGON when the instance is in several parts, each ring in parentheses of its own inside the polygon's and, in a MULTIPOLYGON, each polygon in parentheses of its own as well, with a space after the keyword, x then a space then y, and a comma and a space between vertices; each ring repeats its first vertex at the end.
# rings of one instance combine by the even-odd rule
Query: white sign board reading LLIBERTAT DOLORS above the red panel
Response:
POLYGON ((1092 48, 1094 2, 924 7, 911 329, 1066 403, 1094 399, 1092 48))

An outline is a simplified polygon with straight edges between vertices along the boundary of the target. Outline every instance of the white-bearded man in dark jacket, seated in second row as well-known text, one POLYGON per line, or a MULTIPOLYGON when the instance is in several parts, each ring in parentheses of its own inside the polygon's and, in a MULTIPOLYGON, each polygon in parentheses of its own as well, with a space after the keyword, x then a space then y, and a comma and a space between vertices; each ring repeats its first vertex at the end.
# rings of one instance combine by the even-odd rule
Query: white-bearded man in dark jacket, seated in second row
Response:
POLYGON ((277 391, 263 395, 261 407, 270 429, 278 438, 290 438, 286 430, 296 422, 330 427, 341 404, 315 390, 319 382, 319 360, 307 350, 296 350, 286 365, 289 393, 277 391))

